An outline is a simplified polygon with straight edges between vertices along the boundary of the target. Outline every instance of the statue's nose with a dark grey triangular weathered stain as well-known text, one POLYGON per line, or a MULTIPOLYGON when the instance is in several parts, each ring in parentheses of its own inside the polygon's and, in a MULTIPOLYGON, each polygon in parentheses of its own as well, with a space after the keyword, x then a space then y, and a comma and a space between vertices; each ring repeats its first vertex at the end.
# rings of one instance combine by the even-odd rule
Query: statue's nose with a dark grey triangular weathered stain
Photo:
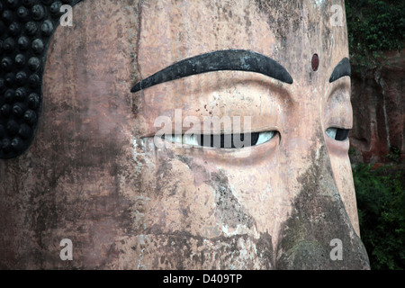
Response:
MULTIPOLYGON (((289 157, 299 157, 293 154, 289 157)), ((369 269, 333 178, 328 149, 318 145, 309 154, 311 164, 296 175, 293 209, 278 234, 276 268, 369 269)))

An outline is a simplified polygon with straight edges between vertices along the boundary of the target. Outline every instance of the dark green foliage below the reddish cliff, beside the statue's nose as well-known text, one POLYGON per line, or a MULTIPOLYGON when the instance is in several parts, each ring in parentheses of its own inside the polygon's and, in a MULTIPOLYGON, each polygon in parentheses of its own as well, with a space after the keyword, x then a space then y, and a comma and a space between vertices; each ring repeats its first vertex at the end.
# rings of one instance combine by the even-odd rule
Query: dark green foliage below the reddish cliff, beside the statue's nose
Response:
POLYGON ((405 268, 405 169, 353 168, 361 238, 372 269, 405 268))

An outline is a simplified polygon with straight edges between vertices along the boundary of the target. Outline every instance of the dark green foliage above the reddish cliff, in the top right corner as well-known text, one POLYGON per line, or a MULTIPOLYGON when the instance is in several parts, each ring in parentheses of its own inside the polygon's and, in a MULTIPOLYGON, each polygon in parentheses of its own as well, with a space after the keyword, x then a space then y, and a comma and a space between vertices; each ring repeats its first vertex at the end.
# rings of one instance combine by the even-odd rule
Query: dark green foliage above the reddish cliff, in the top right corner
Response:
POLYGON ((352 63, 380 67, 384 50, 401 50, 405 40, 405 1, 347 0, 347 31, 352 63))

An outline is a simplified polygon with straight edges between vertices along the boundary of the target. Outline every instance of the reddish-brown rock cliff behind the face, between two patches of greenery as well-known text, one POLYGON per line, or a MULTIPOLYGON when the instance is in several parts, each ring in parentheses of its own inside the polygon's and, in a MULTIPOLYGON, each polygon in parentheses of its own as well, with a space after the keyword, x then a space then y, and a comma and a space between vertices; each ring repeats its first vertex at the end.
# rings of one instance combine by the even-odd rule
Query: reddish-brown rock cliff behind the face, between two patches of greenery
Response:
POLYGON ((405 51, 386 52, 388 64, 374 70, 352 74, 353 130, 351 145, 355 162, 387 162, 390 148, 405 157, 405 51))

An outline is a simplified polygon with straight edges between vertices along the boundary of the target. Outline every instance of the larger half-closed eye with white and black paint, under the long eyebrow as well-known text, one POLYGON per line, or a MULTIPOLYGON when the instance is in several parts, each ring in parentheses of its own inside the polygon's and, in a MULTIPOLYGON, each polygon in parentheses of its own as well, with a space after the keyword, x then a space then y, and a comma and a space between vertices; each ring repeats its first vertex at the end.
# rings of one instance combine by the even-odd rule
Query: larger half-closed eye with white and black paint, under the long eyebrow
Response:
POLYGON ((265 131, 241 134, 184 134, 184 135, 163 135, 174 143, 185 145, 212 147, 212 148, 246 148, 266 143, 275 137, 277 131, 265 131))

